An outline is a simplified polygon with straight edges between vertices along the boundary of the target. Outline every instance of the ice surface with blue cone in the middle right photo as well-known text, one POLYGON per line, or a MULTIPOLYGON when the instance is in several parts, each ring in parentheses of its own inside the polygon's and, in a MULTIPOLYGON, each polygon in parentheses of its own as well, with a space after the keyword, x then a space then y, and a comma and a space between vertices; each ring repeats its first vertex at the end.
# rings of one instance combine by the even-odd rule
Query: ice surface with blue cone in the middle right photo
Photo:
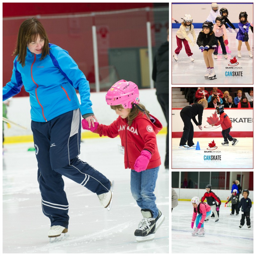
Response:
MULTIPOLYGON (((232 132, 232 131, 231 131, 232 132)), ((231 133, 232 134, 232 133, 231 133)), ((193 141, 197 144, 199 141, 200 150, 181 149, 180 138, 172 138, 172 168, 196 168, 196 169, 247 169, 253 168, 253 138, 236 138, 238 140, 236 146, 222 146, 223 138, 214 138, 216 146, 214 151, 221 153, 204 153, 208 151, 208 144, 212 138, 194 138, 193 141), (221 160, 204 160, 204 155, 220 155, 221 160)))

